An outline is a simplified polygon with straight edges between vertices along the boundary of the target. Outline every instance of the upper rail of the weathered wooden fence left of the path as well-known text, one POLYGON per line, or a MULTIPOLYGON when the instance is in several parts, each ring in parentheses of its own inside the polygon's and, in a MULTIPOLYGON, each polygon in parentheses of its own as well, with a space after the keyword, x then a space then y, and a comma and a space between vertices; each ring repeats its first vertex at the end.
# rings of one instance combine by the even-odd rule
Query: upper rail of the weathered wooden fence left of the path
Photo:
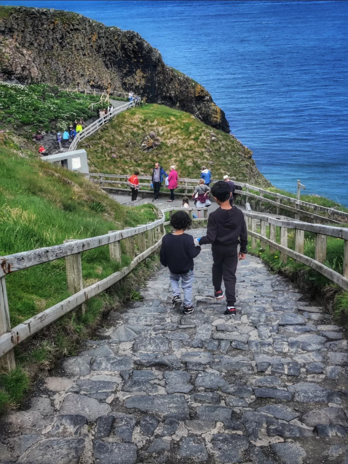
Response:
POLYGON ((146 232, 164 222, 164 214, 161 219, 157 219, 150 224, 134 227, 132 229, 124 229, 110 234, 100 235, 98 237, 84 238, 62 245, 54 245, 37 250, 22 251, 13 255, 0 257, 0 277, 12 272, 27 269, 37 264, 47 263, 65 256, 81 253, 82 251, 92 250, 99 246, 109 245, 123 238, 131 237, 139 232, 146 232))

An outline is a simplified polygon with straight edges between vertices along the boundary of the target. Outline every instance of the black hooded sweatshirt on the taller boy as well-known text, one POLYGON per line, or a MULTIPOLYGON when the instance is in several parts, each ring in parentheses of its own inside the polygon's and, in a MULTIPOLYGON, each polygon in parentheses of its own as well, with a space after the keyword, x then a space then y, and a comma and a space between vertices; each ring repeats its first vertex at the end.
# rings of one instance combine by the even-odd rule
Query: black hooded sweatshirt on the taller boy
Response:
POLYGON ((240 243, 240 252, 246 252, 248 236, 244 215, 236 206, 231 209, 217 209, 209 214, 206 236, 200 239, 200 245, 235 246, 240 243), (240 238, 240 242, 238 240, 240 238))

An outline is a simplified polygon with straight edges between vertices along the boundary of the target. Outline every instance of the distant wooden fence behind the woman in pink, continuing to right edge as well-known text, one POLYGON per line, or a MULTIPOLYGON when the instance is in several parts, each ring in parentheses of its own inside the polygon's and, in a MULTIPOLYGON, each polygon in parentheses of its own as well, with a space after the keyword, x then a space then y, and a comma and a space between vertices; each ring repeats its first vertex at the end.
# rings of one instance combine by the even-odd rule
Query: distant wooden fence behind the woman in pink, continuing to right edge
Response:
MULTIPOLYGON (((105 174, 105 173, 89 173, 88 175, 90 176, 90 180, 92 182, 102 184, 103 187, 104 187, 104 184, 120 184, 120 185, 127 184, 127 181, 108 180, 108 178, 110 178, 110 179, 117 179, 117 178, 118 179, 127 179, 129 177, 128 175, 125 175, 125 174, 105 174), (99 179, 94 179, 93 177, 99 177, 99 179)), ((141 179, 141 180, 151 180, 151 176, 138 176, 138 178, 141 179)), ((190 193, 190 192, 193 191, 194 186, 189 185, 189 184, 190 183, 191 184, 197 184, 198 181, 199 181, 199 179, 178 178, 178 182, 184 182, 184 184, 185 184, 185 185, 178 185, 178 188, 185 189, 185 194, 190 193)), ((211 182, 212 183, 217 182, 217 180, 211 180, 211 182)), ((295 198, 287 197, 285 195, 281 195, 280 193, 274 193, 274 192, 271 192, 269 190, 265 190, 264 188, 252 186, 252 185, 246 184, 244 182, 234 181, 234 184, 239 186, 239 187, 246 188, 246 191, 245 190, 236 191, 236 193, 238 193, 240 195, 244 195, 246 197, 246 200, 245 200, 246 202, 248 201, 249 197, 254 198, 254 199, 260 201, 260 203, 261 202, 262 203, 268 203, 268 204, 270 204, 272 206, 276 206, 277 213, 278 213, 279 209, 281 208, 281 209, 284 209, 286 211, 290 211, 291 213, 295 213, 296 215, 300 214, 300 215, 308 217, 310 219, 314 219, 314 220, 328 219, 330 222, 332 222, 334 224, 340 224, 340 221, 333 219, 332 216, 335 214, 336 216, 341 217, 345 222, 348 222, 348 213, 345 213, 344 211, 336 210, 335 208, 328 208, 326 206, 317 205, 316 203, 309 203, 308 201, 296 200, 295 198), (258 191, 260 193, 260 196, 254 194, 254 193, 251 193, 250 189, 258 191), (265 198, 263 196, 264 194, 272 196, 272 197, 276 197, 278 201, 276 202, 276 201, 270 200, 268 198, 265 198), (296 207, 294 208, 294 207, 289 206, 289 205, 284 205, 284 203, 280 202, 281 200, 288 201, 290 203, 295 203, 296 207), (303 209, 300 209, 299 206, 309 207, 309 208, 314 209, 314 210, 322 211, 323 213, 330 214, 331 217, 326 218, 324 216, 320 216, 319 214, 310 213, 309 211, 304 211, 303 209)), ((148 183, 148 184, 142 183, 140 185, 142 187, 149 187, 150 183, 148 183)), ((127 189, 124 189, 124 190, 127 190, 127 189)), ((297 217, 296 219, 299 219, 299 218, 297 217)))

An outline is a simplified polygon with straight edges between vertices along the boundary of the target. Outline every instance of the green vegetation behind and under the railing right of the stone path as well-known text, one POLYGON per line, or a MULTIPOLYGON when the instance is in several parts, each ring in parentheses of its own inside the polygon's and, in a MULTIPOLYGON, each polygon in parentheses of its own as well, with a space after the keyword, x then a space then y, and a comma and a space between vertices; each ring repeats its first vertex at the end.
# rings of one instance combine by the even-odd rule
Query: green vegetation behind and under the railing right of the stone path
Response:
MULTIPOLYGON (((257 230, 260 233, 259 228, 257 230)), ((269 237, 269 231, 267 231, 269 237)), ((280 230, 277 227, 277 242, 280 242, 280 230)), ((288 247, 295 250, 295 231, 288 231, 288 247)), ((304 254, 309 258, 315 258, 316 254, 316 237, 312 232, 304 232, 304 254)), ((268 247, 266 250, 261 248, 260 241, 256 241, 256 249, 251 249, 251 238, 249 238, 248 252, 259 256, 265 261, 273 271, 281 271, 284 275, 300 284, 302 289, 305 289, 308 294, 315 298, 327 299, 332 304, 333 317, 343 324, 348 322, 348 292, 343 291, 341 287, 334 284, 327 277, 324 277, 319 272, 299 263, 288 257, 287 262, 280 258, 280 253, 270 253, 268 247)), ((327 253, 324 264, 334 271, 342 274, 343 266, 344 240, 341 238, 327 237, 327 253)))

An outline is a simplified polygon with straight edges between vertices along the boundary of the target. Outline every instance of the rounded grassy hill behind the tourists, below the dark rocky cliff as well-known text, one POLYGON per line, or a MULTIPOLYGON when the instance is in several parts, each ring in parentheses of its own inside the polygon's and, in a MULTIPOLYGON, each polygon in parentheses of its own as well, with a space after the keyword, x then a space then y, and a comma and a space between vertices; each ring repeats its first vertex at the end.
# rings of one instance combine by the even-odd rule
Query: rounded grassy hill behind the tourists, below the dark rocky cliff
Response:
POLYGON ((206 165, 214 178, 228 173, 260 186, 270 182, 258 171, 252 152, 232 135, 212 130, 193 115, 158 104, 125 111, 79 144, 86 148, 91 172, 149 175, 155 161, 166 170, 175 164, 179 177, 199 178, 206 165), (142 150, 150 131, 158 146, 142 150))

